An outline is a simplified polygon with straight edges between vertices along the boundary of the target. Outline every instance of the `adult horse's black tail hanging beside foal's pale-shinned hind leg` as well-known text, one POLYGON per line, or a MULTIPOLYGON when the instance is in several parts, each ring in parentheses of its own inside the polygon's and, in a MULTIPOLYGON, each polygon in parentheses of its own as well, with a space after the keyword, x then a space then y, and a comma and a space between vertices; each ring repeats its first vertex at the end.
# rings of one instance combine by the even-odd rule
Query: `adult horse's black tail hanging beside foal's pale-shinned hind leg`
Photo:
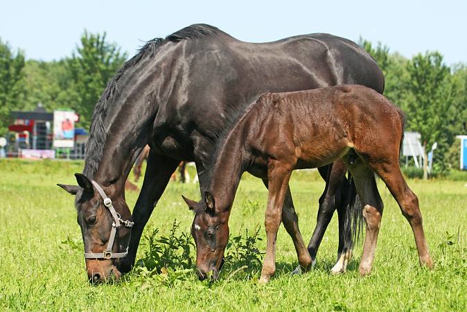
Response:
POLYGON ((344 220, 344 250, 352 249, 360 239, 364 218, 362 204, 349 171, 347 179, 346 214, 344 220))

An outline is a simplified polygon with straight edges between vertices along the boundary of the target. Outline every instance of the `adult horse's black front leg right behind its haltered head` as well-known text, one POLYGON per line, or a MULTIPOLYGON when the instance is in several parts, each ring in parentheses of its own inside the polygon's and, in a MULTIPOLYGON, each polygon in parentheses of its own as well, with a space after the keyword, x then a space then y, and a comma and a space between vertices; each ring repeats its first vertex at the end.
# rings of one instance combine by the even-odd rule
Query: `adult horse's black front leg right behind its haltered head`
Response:
POLYGON ((154 210, 157 201, 161 198, 162 193, 166 189, 170 175, 175 171, 179 160, 172 159, 163 155, 157 155, 150 150, 148 157, 148 165, 144 174, 143 187, 139 193, 138 200, 133 209, 132 236, 128 247, 128 255, 123 258, 120 263, 119 270, 121 272, 129 272, 134 266, 136 252, 138 251, 139 240, 143 229, 149 220, 149 217, 154 210))

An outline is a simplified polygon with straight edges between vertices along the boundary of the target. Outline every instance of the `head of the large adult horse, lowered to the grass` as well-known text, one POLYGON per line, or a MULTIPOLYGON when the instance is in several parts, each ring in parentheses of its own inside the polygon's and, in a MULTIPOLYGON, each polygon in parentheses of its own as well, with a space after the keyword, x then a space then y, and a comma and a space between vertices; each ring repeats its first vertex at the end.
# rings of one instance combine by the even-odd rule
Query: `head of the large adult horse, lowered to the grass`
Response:
MULTIPOLYGON (((109 239, 111 238, 112 224, 115 222, 109 208, 104 205, 100 193, 93 186, 91 180, 85 175, 76 173, 78 186, 58 184, 68 193, 76 195, 76 210, 78 212, 78 225, 81 228, 82 239, 85 245, 85 253, 105 253, 109 239)), ((117 216, 123 220, 131 220, 130 209, 123 198, 123 191, 117 191, 114 187, 103 188, 106 195, 111 198, 112 205, 117 216), (119 193, 119 194, 118 194, 119 193)), ((130 228, 121 225, 116 229, 112 253, 125 252, 130 239, 130 228)), ((121 272, 118 270, 119 258, 92 257, 85 259, 89 281, 99 283, 110 279, 119 279, 121 272)))

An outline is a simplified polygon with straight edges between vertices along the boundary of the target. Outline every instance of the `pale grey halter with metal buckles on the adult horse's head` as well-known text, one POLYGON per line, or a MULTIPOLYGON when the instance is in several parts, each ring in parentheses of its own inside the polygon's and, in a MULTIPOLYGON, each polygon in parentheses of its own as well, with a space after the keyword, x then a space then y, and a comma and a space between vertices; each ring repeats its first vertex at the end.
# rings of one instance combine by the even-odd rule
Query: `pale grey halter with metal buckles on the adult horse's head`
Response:
MULTIPOLYGON (((114 259, 114 258, 123 258, 126 257, 128 254, 128 246, 130 245, 130 240, 128 240, 128 245, 127 249, 125 252, 114 252, 112 253, 112 248, 114 247, 114 241, 115 241, 115 235, 116 235, 116 230, 121 227, 121 225, 125 225, 125 227, 132 227, 134 225, 134 222, 130 220, 123 220, 118 214, 117 211, 115 211, 114 206, 112 205, 112 200, 105 195, 104 190, 100 185, 94 181, 91 180, 92 184, 94 187, 96 187, 97 191, 100 194, 100 197, 103 198, 104 200, 104 206, 109 209, 110 214, 112 214, 112 218, 114 218, 114 222, 112 223, 112 231, 110 232, 109 236, 109 243, 107 243, 107 248, 105 248, 104 252, 85 252, 85 259, 114 259)), ((131 232, 130 232, 131 235, 131 232)), ((130 236, 131 237, 131 236, 130 236)))

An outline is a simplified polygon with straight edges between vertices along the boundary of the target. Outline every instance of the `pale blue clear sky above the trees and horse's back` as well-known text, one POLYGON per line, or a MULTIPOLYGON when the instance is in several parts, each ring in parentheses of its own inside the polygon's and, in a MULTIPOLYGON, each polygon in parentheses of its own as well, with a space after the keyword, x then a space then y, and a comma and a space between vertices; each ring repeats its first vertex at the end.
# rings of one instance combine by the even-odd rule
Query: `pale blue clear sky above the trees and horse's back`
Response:
POLYGON ((360 35, 406 57, 440 51, 467 63, 467 1, 21 1, 0 2, 0 37, 27 58, 71 55, 85 28, 133 55, 142 40, 195 23, 240 40, 265 42, 303 33, 360 35))

